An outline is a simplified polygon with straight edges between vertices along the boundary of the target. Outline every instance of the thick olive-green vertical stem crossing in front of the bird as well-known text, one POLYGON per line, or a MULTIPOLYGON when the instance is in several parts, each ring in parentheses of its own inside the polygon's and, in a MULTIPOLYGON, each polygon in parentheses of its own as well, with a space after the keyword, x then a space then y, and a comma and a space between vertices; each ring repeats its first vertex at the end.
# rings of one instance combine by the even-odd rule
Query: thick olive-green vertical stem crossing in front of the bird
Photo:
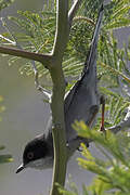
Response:
POLYGON ((55 183, 64 185, 67 164, 64 120, 65 78, 62 69, 62 61, 69 36, 68 0, 57 0, 56 2, 56 32, 54 47, 52 50, 53 67, 50 68, 50 74, 53 81, 51 110, 54 145, 54 165, 51 195, 60 194, 55 183))

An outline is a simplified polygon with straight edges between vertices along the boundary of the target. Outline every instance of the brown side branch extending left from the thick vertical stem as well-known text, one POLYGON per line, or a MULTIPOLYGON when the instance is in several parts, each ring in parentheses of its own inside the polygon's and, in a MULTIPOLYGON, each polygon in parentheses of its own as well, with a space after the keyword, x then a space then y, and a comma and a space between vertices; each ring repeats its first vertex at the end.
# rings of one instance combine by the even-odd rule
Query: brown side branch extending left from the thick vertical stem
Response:
POLYGON ((21 56, 24 58, 38 61, 44 65, 48 69, 50 68, 50 62, 52 60, 52 54, 40 54, 35 52, 28 52, 25 50, 14 49, 14 48, 6 48, 6 47, 0 47, 0 53, 14 55, 14 56, 21 56))

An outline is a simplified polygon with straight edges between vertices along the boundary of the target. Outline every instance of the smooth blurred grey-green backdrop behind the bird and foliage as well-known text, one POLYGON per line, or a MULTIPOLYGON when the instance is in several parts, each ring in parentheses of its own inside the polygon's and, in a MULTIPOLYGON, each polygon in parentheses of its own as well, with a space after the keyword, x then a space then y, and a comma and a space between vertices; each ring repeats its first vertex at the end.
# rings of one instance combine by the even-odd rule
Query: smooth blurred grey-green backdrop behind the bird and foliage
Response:
MULTIPOLYGON (((16 0, 9 9, 2 11, 2 16, 16 14, 16 10, 42 10, 42 0, 16 0), (31 4, 31 8, 30 8, 31 4), (25 8, 26 5, 26 8, 25 8)), ((2 30, 2 29, 1 29, 2 30)), ((115 31, 119 47, 128 41, 129 29, 115 31)), ((50 107, 42 102, 41 94, 35 89, 34 78, 18 73, 18 64, 9 67, 8 58, 0 56, 0 95, 5 112, 0 116, 0 145, 5 145, 3 153, 13 155, 13 162, 0 165, 0 194, 1 195, 41 195, 47 194, 51 186, 52 170, 38 171, 26 169, 16 174, 16 168, 22 162, 25 144, 37 134, 42 133, 49 116, 50 107)), ((90 145, 92 154, 99 155, 94 144, 90 145)), ((93 174, 78 167, 76 153, 68 162, 67 181, 69 174, 81 190, 82 182, 89 184, 93 174)), ((67 183, 66 181, 66 183, 67 183)))

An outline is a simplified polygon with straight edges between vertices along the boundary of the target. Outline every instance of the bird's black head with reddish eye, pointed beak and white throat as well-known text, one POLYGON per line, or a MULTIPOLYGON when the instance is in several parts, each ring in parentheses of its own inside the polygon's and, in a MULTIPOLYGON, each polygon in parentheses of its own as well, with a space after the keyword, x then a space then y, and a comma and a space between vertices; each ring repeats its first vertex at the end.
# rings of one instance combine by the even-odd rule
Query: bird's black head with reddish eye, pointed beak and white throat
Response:
MULTIPOLYGON (((51 141, 51 140, 50 140, 51 141)), ((50 168, 53 165, 53 147, 52 143, 44 135, 35 138, 25 146, 23 154, 23 164, 16 170, 21 172, 24 168, 50 168)))

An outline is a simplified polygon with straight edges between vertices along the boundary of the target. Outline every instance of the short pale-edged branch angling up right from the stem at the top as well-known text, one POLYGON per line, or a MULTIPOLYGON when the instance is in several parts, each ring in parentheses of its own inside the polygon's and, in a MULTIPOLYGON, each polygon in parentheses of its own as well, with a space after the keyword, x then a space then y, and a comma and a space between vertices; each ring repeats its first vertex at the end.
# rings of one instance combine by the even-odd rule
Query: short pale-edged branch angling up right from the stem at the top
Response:
POLYGON ((80 5, 80 3, 82 2, 82 0, 75 0, 73 6, 70 8, 69 12, 68 12, 68 22, 69 22, 69 26, 72 26, 73 23, 73 18, 80 5))

